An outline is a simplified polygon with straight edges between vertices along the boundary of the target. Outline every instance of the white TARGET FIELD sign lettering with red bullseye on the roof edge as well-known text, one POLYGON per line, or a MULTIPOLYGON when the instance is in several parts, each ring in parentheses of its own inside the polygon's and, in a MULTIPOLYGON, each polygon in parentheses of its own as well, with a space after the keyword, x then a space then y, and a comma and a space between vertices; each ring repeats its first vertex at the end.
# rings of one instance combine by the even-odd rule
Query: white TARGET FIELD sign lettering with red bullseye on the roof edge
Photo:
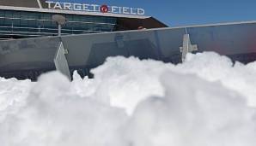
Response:
POLYGON ((112 13, 122 15, 144 15, 144 9, 134 9, 129 7, 118 7, 118 6, 107 6, 98 4, 88 3, 60 3, 46 1, 48 3, 48 9, 64 9, 64 10, 75 10, 85 12, 101 12, 101 13, 112 13))

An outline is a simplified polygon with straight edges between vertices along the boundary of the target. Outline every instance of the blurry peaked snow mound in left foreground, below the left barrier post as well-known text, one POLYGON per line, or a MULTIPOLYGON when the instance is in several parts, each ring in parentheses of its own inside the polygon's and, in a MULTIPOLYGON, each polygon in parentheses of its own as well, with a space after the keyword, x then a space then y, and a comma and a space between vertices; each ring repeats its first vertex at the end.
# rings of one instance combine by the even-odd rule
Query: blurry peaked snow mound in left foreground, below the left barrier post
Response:
MULTIPOLYGON (((13 93, 15 94, 15 93, 13 93)), ((106 145, 114 141, 125 111, 81 98, 62 74, 43 75, 27 103, 2 121, 3 146, 106 145)))

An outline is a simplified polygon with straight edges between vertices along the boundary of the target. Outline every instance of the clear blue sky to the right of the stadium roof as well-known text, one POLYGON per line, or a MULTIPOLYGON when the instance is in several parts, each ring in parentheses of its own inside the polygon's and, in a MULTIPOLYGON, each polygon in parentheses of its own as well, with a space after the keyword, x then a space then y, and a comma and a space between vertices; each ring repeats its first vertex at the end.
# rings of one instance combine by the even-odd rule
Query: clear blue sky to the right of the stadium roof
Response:
POLYGON ((58 0, 143 8, 168 26, 256 20, 256 0, 58 0))

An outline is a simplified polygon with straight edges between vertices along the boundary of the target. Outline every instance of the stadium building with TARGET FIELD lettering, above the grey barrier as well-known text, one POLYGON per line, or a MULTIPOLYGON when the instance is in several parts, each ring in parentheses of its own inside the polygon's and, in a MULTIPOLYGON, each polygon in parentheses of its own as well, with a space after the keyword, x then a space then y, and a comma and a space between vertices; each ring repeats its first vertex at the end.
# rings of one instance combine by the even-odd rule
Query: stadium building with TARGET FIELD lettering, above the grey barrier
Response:
POLYGON ((0 38, 56 36, 52 15, 63 15, 62 35, 166 27, 145 10, 105 4, 59 3, 46 0, 1 0, 0 38))

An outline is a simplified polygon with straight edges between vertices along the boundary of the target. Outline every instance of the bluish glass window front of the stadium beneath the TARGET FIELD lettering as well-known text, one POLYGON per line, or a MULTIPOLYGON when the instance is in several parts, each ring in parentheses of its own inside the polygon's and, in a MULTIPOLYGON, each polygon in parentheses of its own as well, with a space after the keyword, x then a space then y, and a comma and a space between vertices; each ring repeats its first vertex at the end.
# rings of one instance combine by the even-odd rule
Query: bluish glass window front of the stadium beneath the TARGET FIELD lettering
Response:
MULTIPOLYGON (((57 35, 58 26, 52 22, 52 15, 40 12, 0 10, 0 33, 24 35, 57 35), (2 32, 1 32, 2 31, 2 32), (40 33, 39 33, 40 32, 40 33)), ((113 31, 117 19, 104 16, 64 15, 67 23, 63 26, 65 34, 113 31)))

